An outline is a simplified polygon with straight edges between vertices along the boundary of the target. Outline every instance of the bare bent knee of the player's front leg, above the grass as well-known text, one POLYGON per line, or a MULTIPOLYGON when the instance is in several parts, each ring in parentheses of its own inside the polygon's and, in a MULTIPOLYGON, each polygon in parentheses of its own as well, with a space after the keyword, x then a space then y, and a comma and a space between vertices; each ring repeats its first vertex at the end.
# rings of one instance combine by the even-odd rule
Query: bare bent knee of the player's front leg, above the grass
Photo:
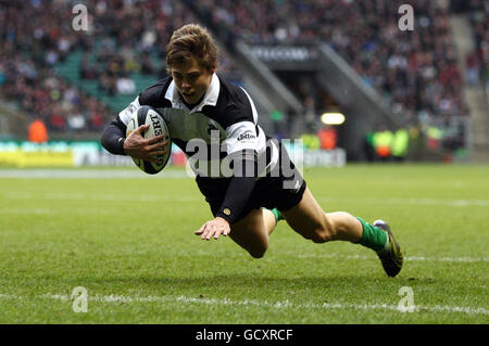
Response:
POLYGON ((268 248, 268 236, 275 226, 275 215, 271 210, 253 209, 231 226, 229 236, 252 257, 260 258, 268 248))

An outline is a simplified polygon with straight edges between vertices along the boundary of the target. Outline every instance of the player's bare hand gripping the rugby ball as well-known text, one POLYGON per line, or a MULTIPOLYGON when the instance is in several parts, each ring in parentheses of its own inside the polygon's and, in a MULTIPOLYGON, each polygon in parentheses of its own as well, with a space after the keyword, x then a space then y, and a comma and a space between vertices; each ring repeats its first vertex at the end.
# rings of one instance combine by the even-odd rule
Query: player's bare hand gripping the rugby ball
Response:
POLYGON ((149 125, 141 125, 130 132, 124 141, 124 152, 131 157, 158 163, 158 156, 165 154, 163 148, 166 144, 166 141, 161 142, 163 140, 163 134, 155 136, 151 139, 143 138, 142 134, 148 129, 149 125))

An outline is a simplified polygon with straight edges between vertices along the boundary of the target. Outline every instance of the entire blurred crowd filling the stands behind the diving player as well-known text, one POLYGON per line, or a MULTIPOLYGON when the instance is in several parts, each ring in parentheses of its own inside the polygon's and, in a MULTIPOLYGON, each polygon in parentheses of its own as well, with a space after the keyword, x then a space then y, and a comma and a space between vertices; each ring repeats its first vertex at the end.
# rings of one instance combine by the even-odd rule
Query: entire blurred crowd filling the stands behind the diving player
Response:
MULTIPOLYGON (((401 35, 399 3, 391 0, 0 1, 0 99, 13 100, 50 131, 100 131, 122 108, 123 102, 113 100, 137 94, 150 84, 145 76, 165 76, 165 43, 172 33, 203 22, 223 44, 218 72, 236 84, 243 82, 242 72, 227 53, 236 40, 319 40, 409 118, 468 116, 462 86, 489 86, 489 3, 452 0, 444 9, 436 1, 410 4, 415 30, 401 35), (72 27, 78 2, 88 9, 88 31, 72 27), (449 16, 455 12, 469 16, 476 42, 464 62, 457 61, 450 30, 449 16), (59 68, 71 61, 76 62, 72 79, 59 68)), ((293 91, 319 116, 322 95, 311 100, 311 89, 303 78, 293 91)))

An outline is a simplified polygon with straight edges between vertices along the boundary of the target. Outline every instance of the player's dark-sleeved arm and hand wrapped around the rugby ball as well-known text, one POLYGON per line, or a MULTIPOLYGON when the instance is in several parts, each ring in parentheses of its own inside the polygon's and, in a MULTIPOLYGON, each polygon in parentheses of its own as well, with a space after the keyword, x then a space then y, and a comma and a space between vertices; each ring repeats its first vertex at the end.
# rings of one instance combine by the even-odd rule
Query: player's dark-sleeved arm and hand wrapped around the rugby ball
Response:
POLYGON ((149 125, 141 125, 126 138, 127 124, 134 112, 139 108, 139 98, 136 98, 114 120, 103 130, 101 143, 105 150, 115 155, 129 155, 149 162, 158 162, 158 156, 163 155, 164 143, 158 143, 163 136, 145 139, 143 133, 149 125))

